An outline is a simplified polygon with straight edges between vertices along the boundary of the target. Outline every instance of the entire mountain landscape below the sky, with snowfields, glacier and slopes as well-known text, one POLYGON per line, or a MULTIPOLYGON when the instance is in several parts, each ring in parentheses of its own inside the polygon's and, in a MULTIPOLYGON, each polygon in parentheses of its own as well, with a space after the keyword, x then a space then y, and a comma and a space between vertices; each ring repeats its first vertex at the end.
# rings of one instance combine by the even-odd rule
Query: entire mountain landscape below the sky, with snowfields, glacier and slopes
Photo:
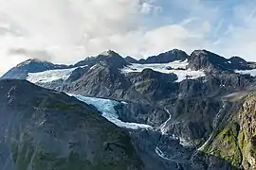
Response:
POLYGON ((207 50, 28 59, 0 78, 0 167, 256 169, 255 91, 256 62, 207 50))

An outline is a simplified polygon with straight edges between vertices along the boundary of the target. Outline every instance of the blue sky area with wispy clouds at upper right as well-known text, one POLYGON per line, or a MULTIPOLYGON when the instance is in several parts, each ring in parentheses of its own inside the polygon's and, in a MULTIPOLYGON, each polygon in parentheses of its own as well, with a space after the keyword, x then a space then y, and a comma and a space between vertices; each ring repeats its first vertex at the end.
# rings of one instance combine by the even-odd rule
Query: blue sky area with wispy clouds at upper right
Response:
MULTIPOLYGON (((194 42, 197 48, 206 48, 228 58, 238 55, 256 60, 253 33, 256 29, 256 1, 160 0, 155 1, 155 6, 161 9, 156 15, 147 16, 146 25, 149 27, 183 26, 191 35, 201 36, 200 42, 194 42)), ((185 50, 190 53, 192 47, 185 45, 185 50)))

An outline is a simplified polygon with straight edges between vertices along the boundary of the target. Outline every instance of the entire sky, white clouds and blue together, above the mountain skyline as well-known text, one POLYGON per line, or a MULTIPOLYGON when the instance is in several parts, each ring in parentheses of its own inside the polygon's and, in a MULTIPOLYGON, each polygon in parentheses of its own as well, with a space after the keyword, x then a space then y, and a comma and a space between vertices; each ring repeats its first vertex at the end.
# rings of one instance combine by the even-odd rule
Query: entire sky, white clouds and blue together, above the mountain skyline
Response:
POLYGON ((29 58, 72 63, 107 49, 173 48, 256 60, 253 0, 0 0, 0 73, 29 58), (4 60, 4 62, 2 62, 4 60))

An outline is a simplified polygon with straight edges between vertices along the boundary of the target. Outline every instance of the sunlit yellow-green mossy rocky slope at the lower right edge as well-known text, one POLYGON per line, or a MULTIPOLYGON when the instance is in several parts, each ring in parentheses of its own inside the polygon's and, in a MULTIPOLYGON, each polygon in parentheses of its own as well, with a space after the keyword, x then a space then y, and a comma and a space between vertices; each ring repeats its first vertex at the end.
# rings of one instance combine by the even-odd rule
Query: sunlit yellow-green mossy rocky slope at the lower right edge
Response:
POLYGON ((249 94, 237 113, 231 114, 223 128, 204 150, 237 168, 255 169, 256 94, 249 94))

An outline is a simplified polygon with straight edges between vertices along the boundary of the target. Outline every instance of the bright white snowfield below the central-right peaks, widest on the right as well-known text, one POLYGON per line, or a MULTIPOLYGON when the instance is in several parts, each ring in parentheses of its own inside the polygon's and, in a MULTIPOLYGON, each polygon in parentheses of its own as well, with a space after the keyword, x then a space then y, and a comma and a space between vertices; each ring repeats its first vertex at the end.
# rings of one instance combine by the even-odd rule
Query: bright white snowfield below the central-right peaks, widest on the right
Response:
POLYGON ((184 79, 195 79, 201 76, 205 76, 203 71, 193 71, 191 69, 186 69, 189 64, 188 60, 175 60, 174 62, 169 63, 153 63, 153 64, 137 64, 133 63, 129 66, 122 68, 120 71, 123 74, 126 73, 139 73, 144 69, 152 69, 156 72, 164 73, 164 74, 175 74, 178 79, 176 82, 181 82, 184 79))

